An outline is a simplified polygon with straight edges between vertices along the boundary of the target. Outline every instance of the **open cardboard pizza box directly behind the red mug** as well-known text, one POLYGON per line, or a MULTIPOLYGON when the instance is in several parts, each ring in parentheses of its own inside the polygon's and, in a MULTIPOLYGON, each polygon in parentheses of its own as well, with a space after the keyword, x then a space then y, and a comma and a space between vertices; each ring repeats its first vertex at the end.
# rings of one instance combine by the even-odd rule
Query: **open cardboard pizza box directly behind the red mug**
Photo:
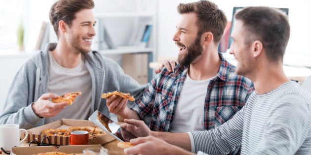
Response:
MULTIPOLYGON (((42 138, 46 135, 42 135, 41 131, 47 128, 64 128, 63 126, 94 126, 97 127, 90 121, 86 120, 72 120, 72 119, 62 119, 59 121, 55 121, 49 124, 45 124, 42 126, 38 126, 35 128, 28 129, 28 137, 25 141, 30 142, 36 140, 41 142, 42 138)), ((23 139, 25 135, 22 134, 21 138, 23 139)), ((50 143, 52 145, 70 145, 69 137, 61 137, 61 136, 47 136, 50 139, 50 143)), ((115 138, 109 134, 106 134, 97 138, 90 138, 89 144, 105 144, 113 141, 115 138)), ((48 143, 47 139, 44 139, 44 143, 48 143)))

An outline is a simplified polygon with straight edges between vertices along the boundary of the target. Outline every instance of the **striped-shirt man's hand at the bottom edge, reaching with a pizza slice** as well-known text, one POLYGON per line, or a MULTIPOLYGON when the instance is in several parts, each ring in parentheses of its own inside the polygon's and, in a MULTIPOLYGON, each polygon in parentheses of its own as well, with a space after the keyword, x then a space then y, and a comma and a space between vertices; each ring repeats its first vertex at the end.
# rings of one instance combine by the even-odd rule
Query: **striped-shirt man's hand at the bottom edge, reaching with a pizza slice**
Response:
POLYGON ((153 136, 132 139, 130 143, 136 146, 124 149, 125 155, 193 155, 153 136))

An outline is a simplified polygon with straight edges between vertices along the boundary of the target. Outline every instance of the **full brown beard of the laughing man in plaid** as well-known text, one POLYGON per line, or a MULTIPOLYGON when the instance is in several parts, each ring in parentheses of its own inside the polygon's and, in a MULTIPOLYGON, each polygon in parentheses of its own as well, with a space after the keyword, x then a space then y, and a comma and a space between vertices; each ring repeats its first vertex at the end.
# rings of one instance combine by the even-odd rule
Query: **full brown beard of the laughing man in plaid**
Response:
MULTIPOLYGON (((176 42, 176 44, 180 47, 185 47, 185 45, 180 42, 176 42)), ((187 48, 185 56, 183 57, 182 55, 178 55, 177 61, 183 66, 189 66, 197 57, 202 55, 202 52, 203 48, 201 46, 201 37, 196 37, 194 43, 187 48)))

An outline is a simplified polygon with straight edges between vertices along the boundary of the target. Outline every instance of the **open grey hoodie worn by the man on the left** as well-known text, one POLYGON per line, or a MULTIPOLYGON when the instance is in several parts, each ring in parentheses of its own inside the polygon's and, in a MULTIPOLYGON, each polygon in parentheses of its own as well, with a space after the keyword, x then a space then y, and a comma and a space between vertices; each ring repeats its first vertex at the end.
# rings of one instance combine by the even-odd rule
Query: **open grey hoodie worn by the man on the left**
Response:
MULTIPOLYGON (((47 44, 44 51, 40 51, 26 61, 19 69, 11 84, 0 115, 0 124, 19 124, 20 128, 29 129, 44 124, 44 118, 38 117, 32 103, 36 102, 43 93, 48 93, 48 52, 56 48, 56 43, 47 44)), ((121 91, 140 98, 145 92, 145 86, 140 86, 130 76, 124 74, 121 67, 111 59, 102 57, 96 51, 84 54, 85 65, 92 79, 91 114, 99 110, 109 115, 106 100, 102 93, 121 91)), ((82 110, 82 109, 73 109, 82 110)))

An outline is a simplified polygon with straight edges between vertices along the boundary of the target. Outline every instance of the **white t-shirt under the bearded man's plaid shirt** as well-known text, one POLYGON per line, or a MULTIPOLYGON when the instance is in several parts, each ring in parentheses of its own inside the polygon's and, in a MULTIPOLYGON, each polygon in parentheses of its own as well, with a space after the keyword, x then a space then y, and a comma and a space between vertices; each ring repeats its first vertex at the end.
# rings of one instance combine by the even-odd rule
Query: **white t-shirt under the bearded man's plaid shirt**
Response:
POLYGON ((170 132, 184 133, 204 130, 204 104, 207 86, 211 79, 194 81, 187 74, 170 132))

